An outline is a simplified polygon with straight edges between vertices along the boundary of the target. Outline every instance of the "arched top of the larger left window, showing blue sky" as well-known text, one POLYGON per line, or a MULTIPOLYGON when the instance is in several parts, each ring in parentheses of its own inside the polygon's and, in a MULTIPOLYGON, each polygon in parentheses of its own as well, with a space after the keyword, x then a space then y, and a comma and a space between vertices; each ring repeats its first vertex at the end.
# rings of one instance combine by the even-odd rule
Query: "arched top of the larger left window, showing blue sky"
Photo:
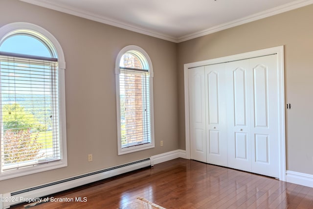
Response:
POLYGON ((57 58, 59 69, 65 69, 63 49, 57 39, 32 23, 9 23, 0 27, 0 51, 57 58))

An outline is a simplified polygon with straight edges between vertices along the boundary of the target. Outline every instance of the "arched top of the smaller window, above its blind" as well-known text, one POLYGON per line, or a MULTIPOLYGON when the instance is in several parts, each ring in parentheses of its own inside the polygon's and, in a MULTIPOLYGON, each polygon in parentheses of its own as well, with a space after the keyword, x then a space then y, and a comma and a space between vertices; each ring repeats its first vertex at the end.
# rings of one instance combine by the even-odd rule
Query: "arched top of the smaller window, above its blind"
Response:
POLYGON ((115 74, 120 73, 121 68, 130 68, 149 71, 153 77, 152 62, 145 50, 139 46, 126 46, 117 55, 115 63, 115 74))

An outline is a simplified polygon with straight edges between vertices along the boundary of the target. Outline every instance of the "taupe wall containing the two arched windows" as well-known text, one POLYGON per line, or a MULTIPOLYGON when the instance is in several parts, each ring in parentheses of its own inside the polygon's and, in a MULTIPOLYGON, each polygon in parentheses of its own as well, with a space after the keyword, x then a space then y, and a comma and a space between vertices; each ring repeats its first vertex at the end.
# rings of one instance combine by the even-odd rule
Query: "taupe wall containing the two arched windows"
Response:
POLYGON ((88 173, 177 150, 177 45, 150 36, 45 9, 18 0, 0 0, 0 26, 37 24, 63 47, 66 59, 68 166, 0 181, 0 193, 88 173), (117 155, 114 65, 128 45, 142 47, 154 69, 156 147, 117 155), (160 147, 160 140, 164 146, 160 147), (93 161, 88 163, 87 155, 93 161))

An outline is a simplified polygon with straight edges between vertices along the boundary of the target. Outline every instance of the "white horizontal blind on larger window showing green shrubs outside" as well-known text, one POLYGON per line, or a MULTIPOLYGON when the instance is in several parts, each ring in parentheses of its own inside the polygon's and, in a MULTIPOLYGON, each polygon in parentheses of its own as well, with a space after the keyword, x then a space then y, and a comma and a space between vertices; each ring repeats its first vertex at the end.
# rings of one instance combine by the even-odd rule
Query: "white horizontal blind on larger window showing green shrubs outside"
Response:
POLYGON ((0 55, 1 171, 61 160, 57 65, 0 55))

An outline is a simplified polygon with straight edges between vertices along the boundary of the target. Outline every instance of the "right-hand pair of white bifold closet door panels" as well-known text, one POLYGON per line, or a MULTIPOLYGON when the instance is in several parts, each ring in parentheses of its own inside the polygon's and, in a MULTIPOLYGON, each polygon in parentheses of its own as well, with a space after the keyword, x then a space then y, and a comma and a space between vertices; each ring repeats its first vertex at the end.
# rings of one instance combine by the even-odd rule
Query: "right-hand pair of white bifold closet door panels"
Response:
POLYGON ((276 55, 226 63, 228 166, 279 177, 276 55))

